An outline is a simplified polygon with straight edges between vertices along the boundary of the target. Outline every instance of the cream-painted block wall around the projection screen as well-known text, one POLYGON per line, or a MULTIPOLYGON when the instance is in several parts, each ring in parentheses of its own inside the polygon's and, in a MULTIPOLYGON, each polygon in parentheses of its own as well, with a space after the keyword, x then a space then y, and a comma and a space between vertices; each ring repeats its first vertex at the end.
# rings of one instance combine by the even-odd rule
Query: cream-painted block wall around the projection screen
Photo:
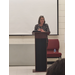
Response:
MULTIPOLYGON (((65 0, 59 0, 59 35, 48 39, 59 39, 59 52, 65 58, 65 0)), ((35 44, 35 39, 34 36, 9 36, 9 44, 35 44)))

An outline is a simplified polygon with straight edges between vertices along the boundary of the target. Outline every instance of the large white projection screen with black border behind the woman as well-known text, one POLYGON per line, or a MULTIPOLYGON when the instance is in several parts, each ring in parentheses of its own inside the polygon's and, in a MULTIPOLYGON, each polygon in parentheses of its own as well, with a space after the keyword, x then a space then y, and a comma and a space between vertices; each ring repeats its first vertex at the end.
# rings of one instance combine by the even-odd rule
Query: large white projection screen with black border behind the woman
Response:
POLYGON ((58 0, 9 0, 9 35, 32 35, 41 15, 58 35, 58 0))

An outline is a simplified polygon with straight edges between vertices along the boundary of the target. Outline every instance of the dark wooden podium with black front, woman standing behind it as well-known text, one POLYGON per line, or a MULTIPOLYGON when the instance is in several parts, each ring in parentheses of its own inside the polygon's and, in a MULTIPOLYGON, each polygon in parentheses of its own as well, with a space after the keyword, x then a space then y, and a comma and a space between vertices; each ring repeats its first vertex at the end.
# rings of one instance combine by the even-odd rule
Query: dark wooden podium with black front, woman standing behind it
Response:
POLYGON ((49 32, 32 32, 32 35, 35 35, 35 70, 33 72, 46 72, 46 40, 49 32))

